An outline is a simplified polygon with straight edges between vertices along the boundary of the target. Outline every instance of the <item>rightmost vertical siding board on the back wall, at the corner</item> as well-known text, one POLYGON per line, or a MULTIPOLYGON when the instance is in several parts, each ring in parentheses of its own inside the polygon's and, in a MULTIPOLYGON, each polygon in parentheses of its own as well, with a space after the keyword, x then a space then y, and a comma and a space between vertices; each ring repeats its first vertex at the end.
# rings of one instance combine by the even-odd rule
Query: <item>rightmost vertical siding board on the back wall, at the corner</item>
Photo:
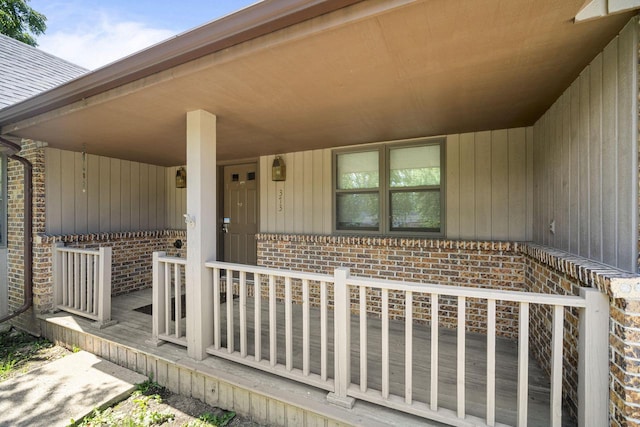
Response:
POLYGON ((509 240, 527 240, 527 144, 526 129, 509 129, 509 240))

